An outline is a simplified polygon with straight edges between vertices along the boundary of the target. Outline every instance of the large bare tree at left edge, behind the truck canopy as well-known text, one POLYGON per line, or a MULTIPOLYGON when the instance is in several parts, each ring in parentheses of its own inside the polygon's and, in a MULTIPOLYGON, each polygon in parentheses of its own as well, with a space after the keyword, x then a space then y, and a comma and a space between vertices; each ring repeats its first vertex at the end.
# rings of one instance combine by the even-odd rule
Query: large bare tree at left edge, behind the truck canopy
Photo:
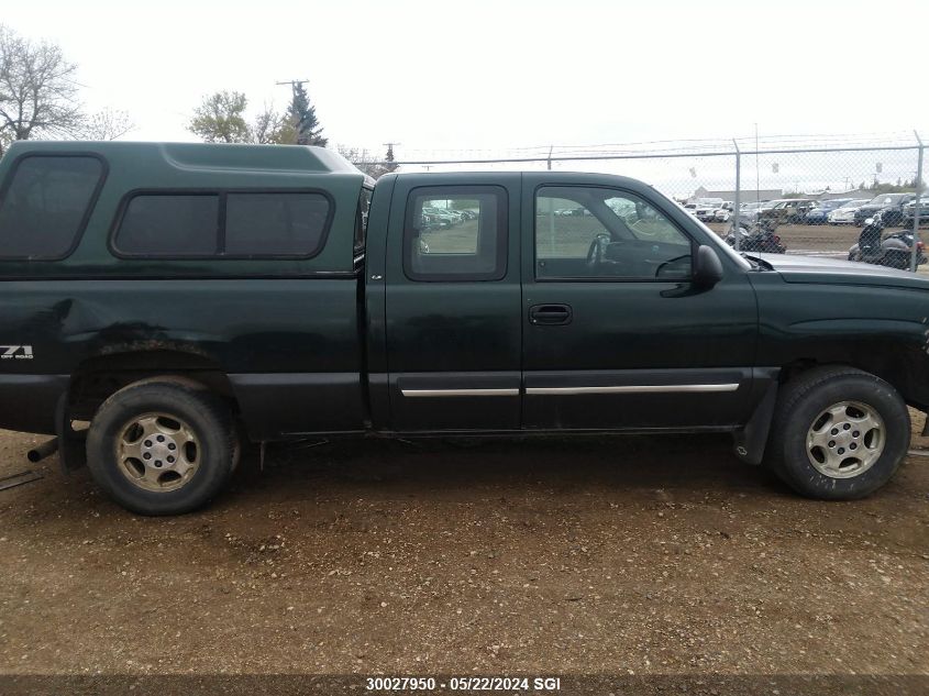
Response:
POLYGON ((8 140, 74 135, 84 122, 76 70, 59 46, 0 25, 0 134, 8 140))

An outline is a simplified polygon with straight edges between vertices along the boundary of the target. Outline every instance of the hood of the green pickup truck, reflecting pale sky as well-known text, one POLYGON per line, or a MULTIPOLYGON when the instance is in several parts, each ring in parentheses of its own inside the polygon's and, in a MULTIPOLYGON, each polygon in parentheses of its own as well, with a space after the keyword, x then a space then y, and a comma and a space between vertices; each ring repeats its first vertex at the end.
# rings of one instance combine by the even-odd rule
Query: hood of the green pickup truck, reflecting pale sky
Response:
POLYGON ((874 264, 820 256, 750 254, 767 263, 786 283, 877 285, 929 290, 929 276, 874 264))

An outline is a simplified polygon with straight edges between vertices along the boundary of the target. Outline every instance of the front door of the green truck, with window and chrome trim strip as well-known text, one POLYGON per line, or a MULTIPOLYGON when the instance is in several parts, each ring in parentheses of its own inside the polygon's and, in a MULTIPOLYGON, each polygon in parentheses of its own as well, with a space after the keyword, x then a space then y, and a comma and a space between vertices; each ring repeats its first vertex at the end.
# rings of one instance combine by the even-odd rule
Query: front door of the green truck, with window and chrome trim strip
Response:
POLYGON ((723 258, 723 280, 695 288, 697 240, 648 187, 546 181, 526 175, 523 189, 524 427, 743 422, 756 340, 745 272, 723 258))

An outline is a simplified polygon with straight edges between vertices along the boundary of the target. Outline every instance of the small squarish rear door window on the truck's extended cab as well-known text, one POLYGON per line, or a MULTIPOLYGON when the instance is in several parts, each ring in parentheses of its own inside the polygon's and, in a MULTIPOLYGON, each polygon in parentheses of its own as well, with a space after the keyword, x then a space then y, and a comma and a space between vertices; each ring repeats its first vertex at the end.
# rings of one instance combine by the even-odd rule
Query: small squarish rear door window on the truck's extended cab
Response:
POLYGON ((403 269, 414 280, 498 280, 507 269, 507 197, 495 186, 416 189, 403 269))

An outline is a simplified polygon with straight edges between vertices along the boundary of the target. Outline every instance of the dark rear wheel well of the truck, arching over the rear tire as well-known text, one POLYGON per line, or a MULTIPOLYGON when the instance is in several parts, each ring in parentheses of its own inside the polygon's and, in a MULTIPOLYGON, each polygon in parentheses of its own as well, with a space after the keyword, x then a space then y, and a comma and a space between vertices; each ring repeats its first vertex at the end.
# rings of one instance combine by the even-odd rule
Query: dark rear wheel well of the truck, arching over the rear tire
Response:
POLYGON ((68 404, 71 420, 89 421, 100 405, 123 387, 158 376, 178 376, 197 382, 229 401, 239 411, 232 384, 213 361, 179 351, 137 351, 91 357, 71 375, 68 404))

